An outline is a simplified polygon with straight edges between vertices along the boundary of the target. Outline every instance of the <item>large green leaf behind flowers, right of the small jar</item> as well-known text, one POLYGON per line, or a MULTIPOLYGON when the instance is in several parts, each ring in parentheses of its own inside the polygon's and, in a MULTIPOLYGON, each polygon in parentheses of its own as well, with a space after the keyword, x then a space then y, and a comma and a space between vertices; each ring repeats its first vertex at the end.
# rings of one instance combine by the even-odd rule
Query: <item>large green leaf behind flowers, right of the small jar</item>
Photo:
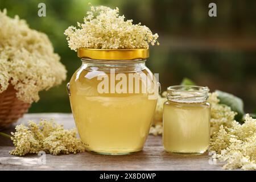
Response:
POLYGON ((234 96, 233 94, 216 90, 220 104, 229 106, 233 111, 237 112, 235 117, 236 121, 242 121, 245 111, 243 110, 243 101, 241 98, 234 96))

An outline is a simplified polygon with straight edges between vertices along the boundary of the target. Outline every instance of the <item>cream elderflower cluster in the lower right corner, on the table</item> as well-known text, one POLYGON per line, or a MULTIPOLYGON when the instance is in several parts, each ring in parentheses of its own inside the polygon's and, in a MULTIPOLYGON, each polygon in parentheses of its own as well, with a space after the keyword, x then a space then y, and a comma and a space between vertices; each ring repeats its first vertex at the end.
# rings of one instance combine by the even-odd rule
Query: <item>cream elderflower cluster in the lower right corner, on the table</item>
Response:
POLYGON ((217 152, 213 158, 226 162, 224 169, 256 170, 256 119, 246 114, 245 123, 231 125, 221 125, 213 134, 210 151, 217 152))

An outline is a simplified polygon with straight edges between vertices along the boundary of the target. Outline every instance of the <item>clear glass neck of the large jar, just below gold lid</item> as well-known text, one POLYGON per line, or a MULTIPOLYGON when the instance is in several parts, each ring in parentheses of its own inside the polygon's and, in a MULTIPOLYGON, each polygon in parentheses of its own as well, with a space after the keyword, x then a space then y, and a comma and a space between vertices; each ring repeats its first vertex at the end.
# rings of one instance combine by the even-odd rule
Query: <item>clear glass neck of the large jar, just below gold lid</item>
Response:
POLYGON ((95 60, 82 58, 82 67, 90 71, 137 72, 146 69, 146 59, 136 60, 95 60))

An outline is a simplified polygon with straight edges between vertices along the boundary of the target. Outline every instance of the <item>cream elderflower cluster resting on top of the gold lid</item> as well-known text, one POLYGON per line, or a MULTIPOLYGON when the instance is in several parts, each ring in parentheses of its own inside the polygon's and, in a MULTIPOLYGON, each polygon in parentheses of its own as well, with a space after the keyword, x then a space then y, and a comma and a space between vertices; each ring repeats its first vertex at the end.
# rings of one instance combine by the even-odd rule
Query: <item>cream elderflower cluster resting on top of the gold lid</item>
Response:
POLYGON ((133 24, 133 20, 125 20, 119 16, 116 7, 91 6, 91 11, 84 17, 84 23, 77 23, 78 28, 70 26, 65 30, 68 46, 77 51, 78 48, 95 49, 135 49, 148 48, 159 44, 158 34, 141 23, 133 24))

